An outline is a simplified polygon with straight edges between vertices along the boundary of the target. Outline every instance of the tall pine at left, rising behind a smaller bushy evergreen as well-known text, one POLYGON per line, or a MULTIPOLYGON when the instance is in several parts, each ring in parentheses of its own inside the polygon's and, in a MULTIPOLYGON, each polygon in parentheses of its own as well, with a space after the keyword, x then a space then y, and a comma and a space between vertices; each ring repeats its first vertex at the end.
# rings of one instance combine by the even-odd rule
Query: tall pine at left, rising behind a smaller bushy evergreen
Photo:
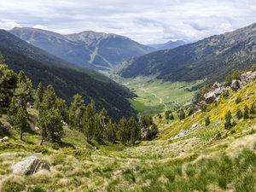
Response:
POLYGON ((17 104, 26 110, 26 103, 32 100, 32 82, 23 71, 18 75, 17 88, 15 89, 15 100, 17 104))

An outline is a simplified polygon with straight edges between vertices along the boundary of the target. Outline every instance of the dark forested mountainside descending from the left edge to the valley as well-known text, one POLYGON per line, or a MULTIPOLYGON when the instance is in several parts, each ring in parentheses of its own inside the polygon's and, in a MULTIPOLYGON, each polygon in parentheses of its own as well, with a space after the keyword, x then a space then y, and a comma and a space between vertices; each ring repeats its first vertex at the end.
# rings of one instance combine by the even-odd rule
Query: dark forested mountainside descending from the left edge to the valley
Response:
POLYGON ((3 30, 0 30, 0 51, 9 67, 16 73, 25 71, 34 87, 40 81, 44 85, 53 84, 57 95, 67 102, 71 102, 77 93, 83 95, 86 102, 94 99, 96 108, 106 108, 113 119, 135 115, 127 100, 133 96, 131 92, 101 73, 84 67, 73 67, 67 61, 3 30))

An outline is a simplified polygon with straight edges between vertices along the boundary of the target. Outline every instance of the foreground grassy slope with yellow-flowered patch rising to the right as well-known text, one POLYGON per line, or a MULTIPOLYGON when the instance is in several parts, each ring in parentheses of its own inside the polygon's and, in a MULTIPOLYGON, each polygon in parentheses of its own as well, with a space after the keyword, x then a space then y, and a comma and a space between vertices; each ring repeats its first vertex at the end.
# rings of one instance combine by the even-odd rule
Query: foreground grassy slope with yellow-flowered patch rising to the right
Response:
MULTIPOLYGON (((212 104, 208 112, 197 113, 183 123, 174 120, 161 129, 159 139, 135 147, 96 144, 100 150, 90 150, 84 148, 88 145, 84 137, 67 127, 63 140, 76 145, 76 149, 55 150, 12 138, 10 143, 0 143, 0 178, 3 186, 9 182, 12 188, 16 183, 20 189, 26 185, 27 189, 37 186, 46 191, 255 191, 256 119, 236 120, 236 127, 224 130, 224 113, 235 113, 237 108, 255 102, 255 90, 256 81, 231 93, 230 99, 222 100, 217 107, 212 104), (241 96, 243 102, 236 104, 236 96, 241 96), (207 114, 212 123, 205 127, 207 114), (166 140, 195 123, 201 123, 197 131, 166 140), (22 154, 6 153, 22 148, 22 154), (10 166, 30 154, 48 162, 51 172, 15 176, 10 166)), ((26 139, 38 143, 37 137, 26 139)))

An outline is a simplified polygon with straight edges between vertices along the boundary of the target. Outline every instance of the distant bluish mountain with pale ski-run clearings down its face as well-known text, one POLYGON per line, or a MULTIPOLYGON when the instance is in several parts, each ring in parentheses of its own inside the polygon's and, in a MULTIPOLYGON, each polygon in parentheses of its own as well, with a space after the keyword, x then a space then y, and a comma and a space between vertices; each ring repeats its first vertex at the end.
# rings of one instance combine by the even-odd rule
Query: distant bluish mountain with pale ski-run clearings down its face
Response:
POLYGON ((70 63, 101 70, 154 50, 130 38, 102 32, 61 35, 28 27, 15 27, 9 32, 70 63))

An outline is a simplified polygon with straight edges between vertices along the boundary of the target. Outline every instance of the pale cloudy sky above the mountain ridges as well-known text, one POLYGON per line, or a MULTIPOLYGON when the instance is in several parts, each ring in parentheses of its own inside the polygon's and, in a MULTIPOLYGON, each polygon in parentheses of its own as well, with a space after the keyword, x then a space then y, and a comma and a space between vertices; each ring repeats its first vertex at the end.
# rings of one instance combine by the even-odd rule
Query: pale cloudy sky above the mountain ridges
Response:
POLYGON ((196 41, 256 22, 256 0, 0 0, 0 28, 116 33, 142 44, 196 41))

